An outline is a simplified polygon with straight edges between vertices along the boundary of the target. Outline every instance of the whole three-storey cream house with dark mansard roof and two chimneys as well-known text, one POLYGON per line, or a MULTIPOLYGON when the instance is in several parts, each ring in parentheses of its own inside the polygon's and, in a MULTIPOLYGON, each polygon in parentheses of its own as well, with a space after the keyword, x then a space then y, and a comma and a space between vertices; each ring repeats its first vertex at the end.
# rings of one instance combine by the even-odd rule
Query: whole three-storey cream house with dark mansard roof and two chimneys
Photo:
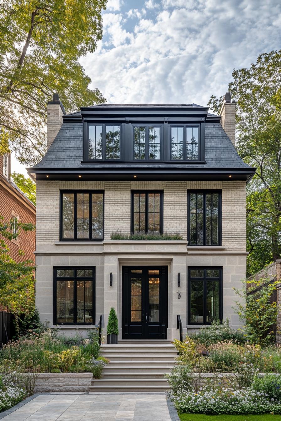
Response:
POLYGON ((36 305, 41 320, 85 331, 110 307, 120 338, 178 336, 228 317, 246 276, 246 182, 235 101, 207 107, 110 105, 64 114, 48 103, 36 179, 36 305), (111 240, 112 232, 182 240, 111 240))

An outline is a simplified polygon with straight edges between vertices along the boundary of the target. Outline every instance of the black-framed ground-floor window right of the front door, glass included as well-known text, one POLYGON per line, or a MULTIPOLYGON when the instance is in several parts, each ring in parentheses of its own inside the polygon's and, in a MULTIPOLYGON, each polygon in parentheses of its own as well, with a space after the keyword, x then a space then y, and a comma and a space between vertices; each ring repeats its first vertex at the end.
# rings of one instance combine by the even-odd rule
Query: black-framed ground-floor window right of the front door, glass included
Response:
POLYGON ((188 324, 222 320, 222 268, 188 268, 188 324))

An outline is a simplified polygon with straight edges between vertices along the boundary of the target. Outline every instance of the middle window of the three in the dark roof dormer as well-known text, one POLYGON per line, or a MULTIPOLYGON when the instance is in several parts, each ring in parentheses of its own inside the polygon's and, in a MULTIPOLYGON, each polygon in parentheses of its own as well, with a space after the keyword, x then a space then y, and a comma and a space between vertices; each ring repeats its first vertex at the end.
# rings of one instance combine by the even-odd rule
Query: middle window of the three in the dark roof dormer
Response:
POLYGON ((161 159, 161 127, 133 126, 134 160, 161 159))

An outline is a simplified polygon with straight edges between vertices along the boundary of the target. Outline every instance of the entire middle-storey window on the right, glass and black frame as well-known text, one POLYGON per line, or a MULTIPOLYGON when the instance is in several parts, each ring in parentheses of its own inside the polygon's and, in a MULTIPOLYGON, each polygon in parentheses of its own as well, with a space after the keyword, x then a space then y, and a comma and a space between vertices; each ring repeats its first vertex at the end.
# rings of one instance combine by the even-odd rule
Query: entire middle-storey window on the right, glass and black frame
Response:
POLYGON ((187 198, 188 245, 221 245, 221 191, 191 190, 187 198))

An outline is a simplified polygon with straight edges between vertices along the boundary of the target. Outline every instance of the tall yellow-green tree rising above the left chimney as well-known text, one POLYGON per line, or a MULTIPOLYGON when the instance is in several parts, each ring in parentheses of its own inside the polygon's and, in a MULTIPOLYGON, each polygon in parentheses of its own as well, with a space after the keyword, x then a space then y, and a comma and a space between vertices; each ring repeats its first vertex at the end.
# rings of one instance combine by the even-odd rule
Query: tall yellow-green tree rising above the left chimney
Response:
POLYGON ((46 150, 46 104, 67 112, 104 102, 79 64, 102 39, 107 0, 0 0, 0 154, 32 165, 46 150))

